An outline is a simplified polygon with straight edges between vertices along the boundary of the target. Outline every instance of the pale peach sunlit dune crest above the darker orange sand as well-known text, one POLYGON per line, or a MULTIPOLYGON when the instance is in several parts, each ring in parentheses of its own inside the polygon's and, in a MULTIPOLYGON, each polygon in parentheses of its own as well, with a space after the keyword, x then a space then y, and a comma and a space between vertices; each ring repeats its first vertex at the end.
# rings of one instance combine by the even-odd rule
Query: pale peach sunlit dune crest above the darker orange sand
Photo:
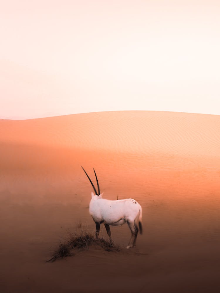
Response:
POLYGON ((220 119, 218 115, 178 112, 96 112, 1 120, 0 132, 1 141, 11 143, 217 156, 220 119))

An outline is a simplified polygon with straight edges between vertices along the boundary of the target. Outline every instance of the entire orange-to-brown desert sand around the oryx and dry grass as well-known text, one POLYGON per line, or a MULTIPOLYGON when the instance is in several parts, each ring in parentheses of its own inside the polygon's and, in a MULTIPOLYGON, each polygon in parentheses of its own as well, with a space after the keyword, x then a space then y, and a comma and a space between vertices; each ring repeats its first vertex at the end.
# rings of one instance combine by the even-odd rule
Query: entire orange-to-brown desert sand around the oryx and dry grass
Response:
MULTIPOLYGON (((219 292, 220 116, 115 111, 0 120, 0 291, 219 292), (45 262, 86 226, 95 168, 106 199, 134 198, 143 235, 45 262)), ((100 236, 108 237, 101 225, 100 236)))

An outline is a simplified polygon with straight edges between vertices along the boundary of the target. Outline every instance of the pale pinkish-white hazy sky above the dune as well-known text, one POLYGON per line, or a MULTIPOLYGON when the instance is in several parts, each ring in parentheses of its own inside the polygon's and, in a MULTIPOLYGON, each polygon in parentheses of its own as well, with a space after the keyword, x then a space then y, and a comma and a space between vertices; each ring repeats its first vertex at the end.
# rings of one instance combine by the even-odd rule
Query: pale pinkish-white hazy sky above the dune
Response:
POLYGON ((0 41, 0 118, 220 115, 217 0, 7 0, 0 41))

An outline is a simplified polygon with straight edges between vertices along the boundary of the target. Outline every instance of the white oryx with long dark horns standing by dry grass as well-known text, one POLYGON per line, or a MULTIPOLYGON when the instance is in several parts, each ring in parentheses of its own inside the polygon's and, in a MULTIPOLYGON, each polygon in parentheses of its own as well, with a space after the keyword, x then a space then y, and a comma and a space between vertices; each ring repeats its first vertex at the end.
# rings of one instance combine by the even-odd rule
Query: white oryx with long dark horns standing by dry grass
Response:
MULTIPOLYGON (((89 178, 83 167, 82 169, 89 178)), ((94 184, 92 183, 92 180, 89 178, 89 181, 92 184, 96 194, 94 195, 92 192, 92 199, 89 203, 89 214, 92 216, 92 219, 96 224, 96 238, 99 236, 100 224, 104 223, 107 234, 109 235, 110 243, 112 244, 109 225, 118 226, 127 223, 131 229, 131 239, 127 245, 127 248, 133 247, 136 244, 138 226, 140 229, 140 234, 142 234, 142 208, 140 204, 138 204, 138 202, 132 198, 121 200, 103 199, 103 193, 100 194, 99 182, 95 170, 94 173, 98 186, 98 193, 94 187, 94 184)))

